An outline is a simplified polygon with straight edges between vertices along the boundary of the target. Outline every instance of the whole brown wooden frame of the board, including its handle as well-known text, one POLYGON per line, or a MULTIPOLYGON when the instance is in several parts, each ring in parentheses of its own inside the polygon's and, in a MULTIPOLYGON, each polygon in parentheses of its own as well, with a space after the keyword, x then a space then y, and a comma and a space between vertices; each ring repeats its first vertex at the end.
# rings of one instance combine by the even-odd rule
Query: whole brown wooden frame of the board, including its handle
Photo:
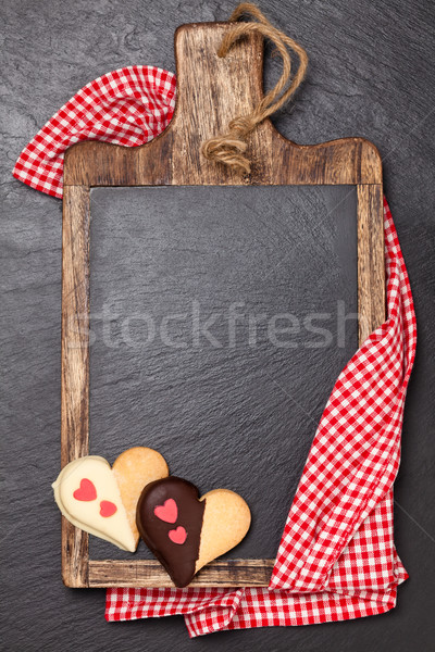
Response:
MULTIPOLYGON (((62 466, 89 453, 89 348, 77 328, 89 315, 90 188, 160 185, 352 185, 358 195, 360 343, 385 319, 382 163, 362 138, 296 145, 264 121, 249 139, 252 172, 240 179, 200 153, 202 141, 249 113, 263 95, 263 47, 251 35, 216 55, 227 23, 181 26, 175 34, 177 102, 172 123, 150 143, 87 141, 64 165, 62 249, 62 466), (198 79, 201 80, 198 84, 198 79)), ((268 586, 273 560, 215 561, 194 586, 268 586)), ((92 561, 88 535, 62 517, 62 576, 69 587, 173 586, 157 561, 92 561)))

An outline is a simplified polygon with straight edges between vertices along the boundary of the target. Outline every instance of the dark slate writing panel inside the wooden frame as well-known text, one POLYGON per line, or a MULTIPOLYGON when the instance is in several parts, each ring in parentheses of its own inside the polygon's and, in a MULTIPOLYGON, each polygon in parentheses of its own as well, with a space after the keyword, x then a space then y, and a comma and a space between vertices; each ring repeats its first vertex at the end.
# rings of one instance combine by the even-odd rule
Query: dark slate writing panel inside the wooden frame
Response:
MULTIPOLYGON (((90 452, 150 446, 201 492, 241 493, 252 526, 227 556, 274 557, 358 348, 357 319, 337 326, 357 313, 356 188, 98 188, 90 214, 90 452)), ((95 538, 90 556, 130 557, 95 538)))

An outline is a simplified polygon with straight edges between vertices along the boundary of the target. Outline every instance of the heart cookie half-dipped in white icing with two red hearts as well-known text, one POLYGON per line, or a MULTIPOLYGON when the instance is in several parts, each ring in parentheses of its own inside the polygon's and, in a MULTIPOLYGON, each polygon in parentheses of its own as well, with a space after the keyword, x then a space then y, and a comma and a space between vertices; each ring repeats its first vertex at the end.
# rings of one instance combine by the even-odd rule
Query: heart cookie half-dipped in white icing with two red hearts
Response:
POLYGON ((53 482, 54 500, 73 525, 135 552, 139 534, 136 504, 145 485, 167 476, 157 451, 137 447, 124 451, 113 469, 104 457, 87 455, 70 462, 53 482))

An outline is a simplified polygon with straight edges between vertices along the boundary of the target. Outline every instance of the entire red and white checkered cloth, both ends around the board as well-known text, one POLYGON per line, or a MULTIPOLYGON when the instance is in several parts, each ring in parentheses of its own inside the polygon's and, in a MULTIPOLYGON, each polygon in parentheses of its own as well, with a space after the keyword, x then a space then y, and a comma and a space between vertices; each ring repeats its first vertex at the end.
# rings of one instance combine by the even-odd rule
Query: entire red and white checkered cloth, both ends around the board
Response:
MULTIPOLYGON (((14 176, 62 197, 63 152, 96 138, 137 146, 170 122, 175 77, 115 71, 70 100, 23 150, 14 176)), ((222 629, 310 625, 384 613, 408 576, 393 539, 415 314, 396 229, 384 203, 387 321, 335 384, 315 434, 264 589, 108 589, 105 617, 184 614, 191 637, 222 629)))

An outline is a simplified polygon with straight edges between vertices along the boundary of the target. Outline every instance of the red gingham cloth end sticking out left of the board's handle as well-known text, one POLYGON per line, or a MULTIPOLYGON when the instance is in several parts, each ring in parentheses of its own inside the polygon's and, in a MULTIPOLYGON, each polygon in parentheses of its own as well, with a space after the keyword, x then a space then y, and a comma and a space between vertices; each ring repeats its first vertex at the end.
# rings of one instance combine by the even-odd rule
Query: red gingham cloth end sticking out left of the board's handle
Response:
POLYGON ((62 199, 65 150, 79 140, 128 147, 152 140, 171 122, 175 86, 175 75, 149 65, 130 65, 90 82, 24 148, 13 176, 62 199))

